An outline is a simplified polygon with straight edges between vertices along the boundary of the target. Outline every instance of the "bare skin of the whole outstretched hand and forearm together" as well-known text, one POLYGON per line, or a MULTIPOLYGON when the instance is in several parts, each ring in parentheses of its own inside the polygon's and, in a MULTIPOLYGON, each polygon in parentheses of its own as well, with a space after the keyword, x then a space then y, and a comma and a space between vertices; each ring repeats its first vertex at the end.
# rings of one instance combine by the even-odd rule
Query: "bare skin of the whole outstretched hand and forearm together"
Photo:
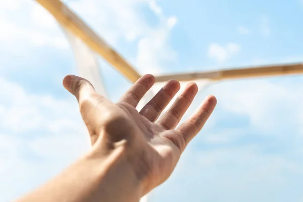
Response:
POLYGON ((153 75, 144 75, 115 104, 97 94, 87 80, 66 76, 63 85, 78 100, 92 147, 55 179, 18 201, 139 201, 167 180, 217 100, 212 95, 206 97, 176 128, 197 93, 197 85, 189 83, 159 118, 180 84, 167 82, 138 112, 136 106, 154 83, 153 75))

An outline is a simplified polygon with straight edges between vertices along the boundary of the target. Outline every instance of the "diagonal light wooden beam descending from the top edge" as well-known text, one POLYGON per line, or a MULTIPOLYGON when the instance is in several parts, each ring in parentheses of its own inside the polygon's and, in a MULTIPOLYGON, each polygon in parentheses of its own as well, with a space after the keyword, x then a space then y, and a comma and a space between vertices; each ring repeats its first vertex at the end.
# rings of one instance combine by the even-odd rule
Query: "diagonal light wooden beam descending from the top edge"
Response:
POLYGON ((123 59, 60 0, 36 1, 49 11, 61 25, 82 39, 93 51, 102 56, 131 82, 134 83, 140 78, 139 73, 136 72, 125 59, 123 59))

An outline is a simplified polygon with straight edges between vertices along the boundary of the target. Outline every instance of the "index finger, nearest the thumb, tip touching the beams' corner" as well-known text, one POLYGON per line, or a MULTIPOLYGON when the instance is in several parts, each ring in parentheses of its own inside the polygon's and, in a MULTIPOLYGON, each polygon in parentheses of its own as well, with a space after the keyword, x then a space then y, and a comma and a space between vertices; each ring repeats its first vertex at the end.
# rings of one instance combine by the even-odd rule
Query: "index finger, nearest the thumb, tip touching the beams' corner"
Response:
POLYGON ((144 94, 153 86, 155 83, 155 77, 150 74, 146 74, 138 79, 131 88, 120 98, 119 102, 125 102, 133 107, 137 107, 139 101, 144 94))

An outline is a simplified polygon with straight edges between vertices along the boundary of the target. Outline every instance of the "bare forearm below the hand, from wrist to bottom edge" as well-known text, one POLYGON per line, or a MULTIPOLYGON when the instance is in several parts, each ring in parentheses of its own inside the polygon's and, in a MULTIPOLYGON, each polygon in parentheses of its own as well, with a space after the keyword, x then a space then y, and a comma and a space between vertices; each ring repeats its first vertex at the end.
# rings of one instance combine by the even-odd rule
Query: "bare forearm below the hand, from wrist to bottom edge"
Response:
POLYGON ((89 154, 18 202, 137 202, 140 185, 122 153, 89 154))

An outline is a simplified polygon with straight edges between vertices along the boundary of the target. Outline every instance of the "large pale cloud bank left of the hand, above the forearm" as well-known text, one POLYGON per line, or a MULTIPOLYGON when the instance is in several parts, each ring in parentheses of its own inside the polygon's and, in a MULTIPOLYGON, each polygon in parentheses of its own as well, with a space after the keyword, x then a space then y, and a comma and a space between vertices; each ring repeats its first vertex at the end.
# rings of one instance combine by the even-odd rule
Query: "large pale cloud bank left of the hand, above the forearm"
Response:
POLYGON ((90 147, 75 99, 30 94, 0 79, 0 112, 0 128, 7 131, 0 134, 4 201, 43 183, 90 147))

